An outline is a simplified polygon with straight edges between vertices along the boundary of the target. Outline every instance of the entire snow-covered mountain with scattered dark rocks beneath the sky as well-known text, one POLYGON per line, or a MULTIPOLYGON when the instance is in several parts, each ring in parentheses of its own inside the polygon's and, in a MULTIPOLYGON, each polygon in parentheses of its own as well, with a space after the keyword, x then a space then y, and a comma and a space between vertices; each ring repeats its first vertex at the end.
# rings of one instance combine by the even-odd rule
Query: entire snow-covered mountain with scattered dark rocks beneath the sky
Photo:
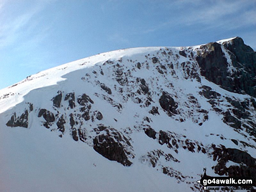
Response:
POLYGON ((256 175, 256 52, 240 37, 64 64, 0 90, 0 192, 189 192, 256 175))

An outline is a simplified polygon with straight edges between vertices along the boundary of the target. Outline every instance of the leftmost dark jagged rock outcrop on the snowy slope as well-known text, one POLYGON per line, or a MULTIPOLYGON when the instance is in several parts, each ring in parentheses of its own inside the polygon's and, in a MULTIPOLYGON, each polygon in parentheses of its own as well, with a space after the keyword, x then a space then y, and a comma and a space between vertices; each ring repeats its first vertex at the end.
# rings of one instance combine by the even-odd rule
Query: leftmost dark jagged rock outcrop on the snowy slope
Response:
POLYGON ((20 117, 16 117, 16 113, 11 116, 6 124, 8 127, 28 127, 28 111, 26 110, 20 117))

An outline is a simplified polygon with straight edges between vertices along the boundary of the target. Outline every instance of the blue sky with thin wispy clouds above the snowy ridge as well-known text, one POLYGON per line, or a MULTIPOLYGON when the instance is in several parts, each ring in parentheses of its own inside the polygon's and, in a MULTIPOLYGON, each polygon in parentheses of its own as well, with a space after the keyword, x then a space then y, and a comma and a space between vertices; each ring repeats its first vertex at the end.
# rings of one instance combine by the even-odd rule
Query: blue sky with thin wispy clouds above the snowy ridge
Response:
POLYGON ((102 52, 236 36, 256 50, 256 0, 0 0, 0 89, 102 52))

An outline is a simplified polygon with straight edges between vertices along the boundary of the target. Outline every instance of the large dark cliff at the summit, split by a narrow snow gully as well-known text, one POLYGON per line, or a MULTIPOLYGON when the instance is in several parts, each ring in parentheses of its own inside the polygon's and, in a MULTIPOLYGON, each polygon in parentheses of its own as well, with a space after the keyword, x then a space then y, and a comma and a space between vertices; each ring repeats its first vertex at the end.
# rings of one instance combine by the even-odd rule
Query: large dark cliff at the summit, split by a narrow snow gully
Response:
POLYGON ((227 91, 256 97, 256 52, 245 45, 240 37, 224 42, 223 45, 235 70, 228 71, 229 64, 222 45, 209 43, 202 45, 196 56, 201 75, 227 91))

